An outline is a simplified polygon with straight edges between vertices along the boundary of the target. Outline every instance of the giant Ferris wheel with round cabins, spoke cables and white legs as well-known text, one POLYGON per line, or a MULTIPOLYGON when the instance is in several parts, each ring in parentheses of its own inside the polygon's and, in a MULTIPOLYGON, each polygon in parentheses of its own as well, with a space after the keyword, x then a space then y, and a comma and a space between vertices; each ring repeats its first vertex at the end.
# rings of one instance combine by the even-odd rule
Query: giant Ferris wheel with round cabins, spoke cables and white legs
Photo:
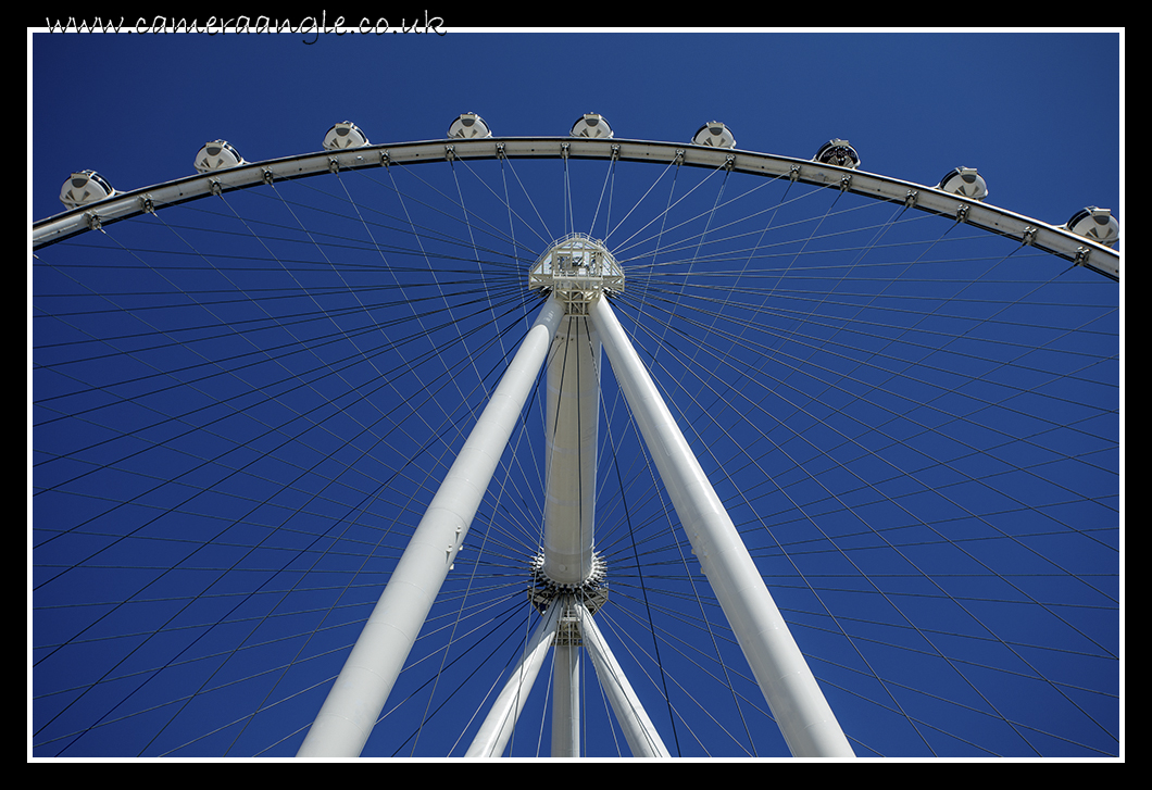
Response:
POLYGON ((33 753, 1116 754, 1119 223, 813 147, 73 174, 33 753))

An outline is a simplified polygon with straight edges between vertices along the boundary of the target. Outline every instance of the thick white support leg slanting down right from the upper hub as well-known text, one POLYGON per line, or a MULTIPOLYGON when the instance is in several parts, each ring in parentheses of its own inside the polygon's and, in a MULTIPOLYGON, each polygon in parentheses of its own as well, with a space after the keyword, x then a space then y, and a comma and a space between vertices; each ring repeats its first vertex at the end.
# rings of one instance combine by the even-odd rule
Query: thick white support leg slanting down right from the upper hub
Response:
POLYGON ((855 757, 720 497, 606 298, 590 305, 680 523, 795 757, 855 757))

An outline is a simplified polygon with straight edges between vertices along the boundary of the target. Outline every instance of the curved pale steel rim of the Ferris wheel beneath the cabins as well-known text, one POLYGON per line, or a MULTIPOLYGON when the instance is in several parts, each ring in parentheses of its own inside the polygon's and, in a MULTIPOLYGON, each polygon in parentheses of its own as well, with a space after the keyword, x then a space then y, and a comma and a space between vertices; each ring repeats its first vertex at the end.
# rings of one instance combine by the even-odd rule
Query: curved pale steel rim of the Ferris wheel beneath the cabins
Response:
POLYGON ((41 220, 33 225, 32 248, 38 249, 93 227, 156 211, 167 205, 195 200, 218 191, 244 189, 270 181, 304 178, 342 169, 418 165, 452 158, 499 159, 502 157, 515 159, 619 159, 713 169, 729 168, 751 175, 794 178, 806 184, 841 189, 878 200, 902 203, 920 211, 952 217, 968 225, 1015 238, 1022 244, 1030 244, 1066 260, 1086 266, 1113 280, 1120 279, 1120 253, 1111 248, 1063 228, 1005 208, 964 200, 934 187, 791 157, 737 149, 615 138, 486 137, 439 139, 369 145, 346 151, 323 151, 270 159, 119 193, 99 203, 41 220))

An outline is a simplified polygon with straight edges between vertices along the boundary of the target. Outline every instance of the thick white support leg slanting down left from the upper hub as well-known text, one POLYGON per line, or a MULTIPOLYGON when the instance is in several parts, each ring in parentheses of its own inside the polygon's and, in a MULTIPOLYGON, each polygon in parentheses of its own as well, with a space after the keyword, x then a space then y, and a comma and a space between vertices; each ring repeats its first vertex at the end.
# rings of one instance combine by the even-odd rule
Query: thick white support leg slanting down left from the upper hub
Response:
POLYGON ((412 533, 296 757, 358 757, 476 516, 556 334, 563 305, 540 310, 412 533))

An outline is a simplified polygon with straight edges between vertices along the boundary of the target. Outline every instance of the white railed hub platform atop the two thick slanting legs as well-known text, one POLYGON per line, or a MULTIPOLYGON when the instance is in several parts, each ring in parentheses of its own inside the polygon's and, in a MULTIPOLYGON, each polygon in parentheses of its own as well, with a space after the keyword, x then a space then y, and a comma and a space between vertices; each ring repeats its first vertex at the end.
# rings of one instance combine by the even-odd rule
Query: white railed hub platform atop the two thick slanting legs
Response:
POLYGON ((548 290, 568 316, 586 316, 600 294, 624 290, 624 271, 602 242, 574 233, 555 242, 528 272, 530 290, 548 290))

